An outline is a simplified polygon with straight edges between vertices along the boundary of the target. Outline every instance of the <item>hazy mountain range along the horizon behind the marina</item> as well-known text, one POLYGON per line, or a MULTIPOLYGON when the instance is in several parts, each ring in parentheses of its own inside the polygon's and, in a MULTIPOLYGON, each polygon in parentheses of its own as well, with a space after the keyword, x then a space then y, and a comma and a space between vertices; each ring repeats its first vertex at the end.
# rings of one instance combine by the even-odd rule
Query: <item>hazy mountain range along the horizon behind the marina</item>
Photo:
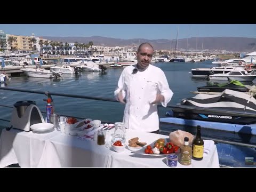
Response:
MULTIPOLYGON (((155 50, 173 50, 175 49, 176 39, 120 39, 101 36, 91 37, 51 37, 44 36, 42 38, 50 41, 68 42, 68 43, 89 43, 93 45, 110 46, 110 47, 131 47, 139 45, 143 42, 151 43, 155 50)), ((234 52, 252 52, 256 50, 256 38, 247 37, 191 37, 178 39, 177 49, 189 50, 226 50, 234 52)))

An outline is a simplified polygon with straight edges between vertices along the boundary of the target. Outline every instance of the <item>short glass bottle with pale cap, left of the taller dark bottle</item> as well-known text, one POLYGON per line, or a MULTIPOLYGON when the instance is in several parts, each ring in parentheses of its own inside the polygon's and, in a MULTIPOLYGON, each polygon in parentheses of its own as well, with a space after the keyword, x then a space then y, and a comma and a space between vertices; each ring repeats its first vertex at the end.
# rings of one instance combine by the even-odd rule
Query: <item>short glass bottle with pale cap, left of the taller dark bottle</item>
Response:
POLYGON ((190 165, 192 157, 192 148, 189 146, 188 137, 184 138, 184 145, 180 148, 180 164, 190 165))

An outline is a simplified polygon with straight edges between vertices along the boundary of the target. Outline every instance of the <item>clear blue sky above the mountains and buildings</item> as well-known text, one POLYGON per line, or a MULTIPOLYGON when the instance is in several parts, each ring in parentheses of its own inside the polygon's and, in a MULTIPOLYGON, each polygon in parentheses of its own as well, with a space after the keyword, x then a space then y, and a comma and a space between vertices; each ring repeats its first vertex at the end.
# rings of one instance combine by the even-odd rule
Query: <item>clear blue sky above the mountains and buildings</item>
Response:
POLYGON ((190 37, 252 37, 256 24, 0 24, 6 34, 59 37, 102 36, 122 39, 190 37))

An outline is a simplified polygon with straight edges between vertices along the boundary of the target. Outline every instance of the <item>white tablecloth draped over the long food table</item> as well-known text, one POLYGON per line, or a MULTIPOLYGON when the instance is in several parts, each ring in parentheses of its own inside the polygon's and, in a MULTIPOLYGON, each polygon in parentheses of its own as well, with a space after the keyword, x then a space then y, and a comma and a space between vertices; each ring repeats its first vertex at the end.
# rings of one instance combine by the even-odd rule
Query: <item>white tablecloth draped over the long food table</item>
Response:
MULTIPOLYGON (((111 131, 114 131, 111 130, 111 131)), ((154 133, 126 132, 127 141, 139 137, 142 142, 153 143, 168 135, 154 133)), ((204 140, 209 153, 202 161, 192 160, 192 164, 177 167, 219 167, 217 148, 213 141, 204 140), (208 145, 209 144, 209 145, 208 145)), ((12 129, 3 130, 0 138, 0 166, 19 163, 21 167, 169 167, 165 156, 133 154, 129 149, 116 153, 113 149, 98 146, 93 140, 50 133, 33 133, 12 129)))

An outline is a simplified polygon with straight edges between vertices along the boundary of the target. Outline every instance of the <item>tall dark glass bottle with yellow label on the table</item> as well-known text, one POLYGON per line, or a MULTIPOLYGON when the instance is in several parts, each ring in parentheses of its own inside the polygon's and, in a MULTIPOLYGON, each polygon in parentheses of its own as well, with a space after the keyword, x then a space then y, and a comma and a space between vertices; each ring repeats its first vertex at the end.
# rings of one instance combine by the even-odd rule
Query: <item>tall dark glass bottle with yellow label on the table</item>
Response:
POLYGON ((200 161, 203 159, 204 141, 201 138, 201 126, 197 125, 196 137, 192 142, 192 158, 200 161))

